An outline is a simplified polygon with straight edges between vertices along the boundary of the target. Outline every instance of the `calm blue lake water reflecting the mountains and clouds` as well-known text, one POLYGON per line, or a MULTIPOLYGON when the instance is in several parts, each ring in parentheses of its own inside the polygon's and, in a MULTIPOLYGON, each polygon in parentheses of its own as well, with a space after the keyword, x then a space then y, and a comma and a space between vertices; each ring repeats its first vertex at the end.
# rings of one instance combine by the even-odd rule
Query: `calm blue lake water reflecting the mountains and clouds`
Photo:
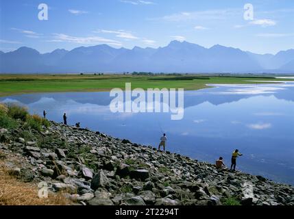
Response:
MULTIPOLYGON (((256 82, 258 83, 258 82, 256 82)), ((167 133, 167 150, 230 166, 234 149, 244 154, 237 169, 294 185, 294 83, 211 85, 184 92, 184 118, 169 113, 112 113, 109 92, 23 94, 2 102, 26 105, 29 112, 62 122, 81 123, 108 135, 158 146, 167 133)))

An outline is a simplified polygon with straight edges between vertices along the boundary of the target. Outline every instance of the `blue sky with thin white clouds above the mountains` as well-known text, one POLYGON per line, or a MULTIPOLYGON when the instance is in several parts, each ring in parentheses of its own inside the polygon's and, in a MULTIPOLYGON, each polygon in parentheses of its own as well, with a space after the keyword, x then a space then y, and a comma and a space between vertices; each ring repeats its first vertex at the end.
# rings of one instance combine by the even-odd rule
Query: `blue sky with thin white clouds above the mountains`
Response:
POLYGON ((95 44, 132 49, 186 40, 254 53, 294 49, 293 0, 0 0, 0 50, 41 53, 95 44), (49 6, 48 21, 38 5, 49 6), (254 20, 243 18, 245 3, 254 20))

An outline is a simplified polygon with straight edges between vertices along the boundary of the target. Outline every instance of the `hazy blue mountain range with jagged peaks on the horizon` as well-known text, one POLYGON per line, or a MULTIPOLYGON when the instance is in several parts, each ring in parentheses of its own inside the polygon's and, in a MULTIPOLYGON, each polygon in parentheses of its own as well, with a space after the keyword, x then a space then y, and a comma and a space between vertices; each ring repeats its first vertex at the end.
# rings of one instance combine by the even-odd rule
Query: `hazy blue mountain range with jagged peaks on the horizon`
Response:
POLYGON ((256 54, 219 44, 205 48, 174 40, 166 47, 115 49, 107 44, 41 54, 0 51, 0 73, 294 73, 294 49, 256 54))

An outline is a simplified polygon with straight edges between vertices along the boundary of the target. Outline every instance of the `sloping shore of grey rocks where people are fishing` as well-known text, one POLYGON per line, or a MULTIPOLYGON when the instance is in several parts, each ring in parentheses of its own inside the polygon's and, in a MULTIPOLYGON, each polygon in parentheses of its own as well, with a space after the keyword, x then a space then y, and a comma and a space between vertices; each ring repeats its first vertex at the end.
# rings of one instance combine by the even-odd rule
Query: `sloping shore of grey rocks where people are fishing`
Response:
POLYGON ((12 175, 75 205, 294 205, 291 185, 53 122, 0 127, 0 152, 12 175))

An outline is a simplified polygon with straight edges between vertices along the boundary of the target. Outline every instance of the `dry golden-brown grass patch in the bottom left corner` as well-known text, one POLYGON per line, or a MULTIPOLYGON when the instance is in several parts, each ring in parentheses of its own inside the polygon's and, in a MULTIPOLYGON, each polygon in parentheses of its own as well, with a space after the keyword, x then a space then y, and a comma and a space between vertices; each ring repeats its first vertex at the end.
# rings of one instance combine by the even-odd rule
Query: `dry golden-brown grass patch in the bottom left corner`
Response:
POLYGON ((10 172, 3 162, 0 162, 0 205, 71 205, 71 201, 61 192, 49 192, 48 198, 39 198, 38 186, 35 183, 19 181, 10 175, 10 172))

